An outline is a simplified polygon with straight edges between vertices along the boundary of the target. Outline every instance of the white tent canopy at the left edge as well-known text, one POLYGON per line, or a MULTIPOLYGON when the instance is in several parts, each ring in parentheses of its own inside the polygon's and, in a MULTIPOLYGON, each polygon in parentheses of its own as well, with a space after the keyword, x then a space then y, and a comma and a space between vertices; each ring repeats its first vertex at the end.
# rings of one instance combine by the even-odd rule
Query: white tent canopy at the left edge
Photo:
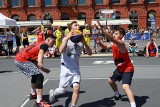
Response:
POLYGON ((7 27, 11 25, 16 25, 16 20, 4 16, 0 13, 0 27, 7 27))

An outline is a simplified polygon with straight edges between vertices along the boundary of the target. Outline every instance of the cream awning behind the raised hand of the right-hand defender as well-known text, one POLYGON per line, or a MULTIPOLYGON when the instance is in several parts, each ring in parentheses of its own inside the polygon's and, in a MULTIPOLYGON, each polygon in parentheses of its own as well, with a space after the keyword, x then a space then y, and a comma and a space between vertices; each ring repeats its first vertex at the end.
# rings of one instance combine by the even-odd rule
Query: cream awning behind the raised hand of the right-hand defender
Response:
MULTIPOLYGON (((101 25, 106 25, 106 20, 99 21, 101 25)), ((96 20, 92 20, 92 25, 97 24, 96 20)), ((115 19, 115 20, 107 20, 107 25, 123 25, 123 24, 132 24, 129 19, 115 19)))

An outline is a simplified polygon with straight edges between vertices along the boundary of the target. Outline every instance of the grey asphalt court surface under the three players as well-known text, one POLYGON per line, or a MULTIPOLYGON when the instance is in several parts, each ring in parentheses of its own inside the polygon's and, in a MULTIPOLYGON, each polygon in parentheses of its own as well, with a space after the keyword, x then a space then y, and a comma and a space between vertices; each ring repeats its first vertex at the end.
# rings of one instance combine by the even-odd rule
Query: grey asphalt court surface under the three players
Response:
MULTIPOLYGON (((135 74, 131 88, 135 94, 137 107, 159 107, 160 58, 131 57, 135 74)), ((58 87, 60 60, 45 59, 44 66, 52 72, 44 74, 44 98, 48 100, 48 91, 58 87)), ((28 100, 30 79, 14 65, 13 59, 0 59, 0 107, 33 107, 34 100, 28 100)), ((129 107, 128 99, 121 83, 119 90, 122 101, 112 101, 113 91, 107 78, 115 69, 112 57, 80 58, 82 74, 81 91, 77 107, 129 107)), ((72 88, 59 96, 53 107, 68 107, 71 101, 72 88)))

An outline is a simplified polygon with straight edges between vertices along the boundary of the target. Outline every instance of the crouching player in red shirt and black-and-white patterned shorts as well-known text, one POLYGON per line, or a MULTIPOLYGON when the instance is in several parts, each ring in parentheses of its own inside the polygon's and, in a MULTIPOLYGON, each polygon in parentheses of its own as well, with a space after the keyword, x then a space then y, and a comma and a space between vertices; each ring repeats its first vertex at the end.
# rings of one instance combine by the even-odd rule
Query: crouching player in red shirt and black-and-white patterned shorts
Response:
MULTIPOLYGON (((32 44, 21 50, 15 57, 16 66, 27 76, 31 77, 30 99, 37 99, 36 105, 44 107, 46 104, 42 101, 43 80, 44 76, 40 72, 49 73, 50 70, 43 67, 43 56, 55 43, 55 36, 49 35, 43 42, 32 44)), ((49 105, 47 105, 50 107, 49 105)))

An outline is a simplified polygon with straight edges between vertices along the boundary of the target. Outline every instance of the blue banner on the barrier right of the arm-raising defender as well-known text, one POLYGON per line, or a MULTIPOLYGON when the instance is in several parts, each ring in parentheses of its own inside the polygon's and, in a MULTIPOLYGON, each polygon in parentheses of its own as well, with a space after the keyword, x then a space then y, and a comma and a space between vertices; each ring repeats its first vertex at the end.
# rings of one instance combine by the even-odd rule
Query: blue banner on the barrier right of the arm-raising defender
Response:
POLYGON ((144 33, 142 36, 140 33, 127 33, 125 35, 125 40, 150 40, 150 34, 144 33))

